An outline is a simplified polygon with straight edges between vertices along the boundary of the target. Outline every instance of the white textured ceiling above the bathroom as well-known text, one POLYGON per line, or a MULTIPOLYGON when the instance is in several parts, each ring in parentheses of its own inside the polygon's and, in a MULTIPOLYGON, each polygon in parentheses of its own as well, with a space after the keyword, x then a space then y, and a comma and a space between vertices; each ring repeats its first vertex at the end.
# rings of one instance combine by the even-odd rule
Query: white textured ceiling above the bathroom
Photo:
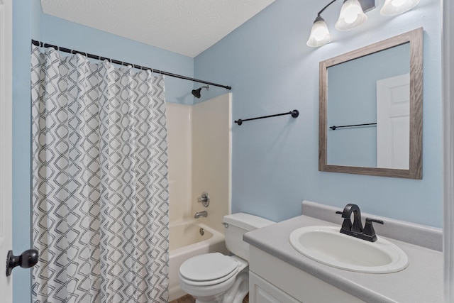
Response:
POLYGON ((275 0, 41 0, 43 12, 195 57, 275 0))

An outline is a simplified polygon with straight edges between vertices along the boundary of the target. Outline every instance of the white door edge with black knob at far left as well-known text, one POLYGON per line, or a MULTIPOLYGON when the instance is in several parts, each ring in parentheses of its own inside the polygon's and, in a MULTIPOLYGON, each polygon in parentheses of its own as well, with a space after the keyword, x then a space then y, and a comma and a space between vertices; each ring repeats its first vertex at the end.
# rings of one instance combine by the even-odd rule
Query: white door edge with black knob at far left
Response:
POLYGON ((6 254, 12 248, 12 0, 0 0, 0 294, 13 302, 12 278, 6 277, 6 254))

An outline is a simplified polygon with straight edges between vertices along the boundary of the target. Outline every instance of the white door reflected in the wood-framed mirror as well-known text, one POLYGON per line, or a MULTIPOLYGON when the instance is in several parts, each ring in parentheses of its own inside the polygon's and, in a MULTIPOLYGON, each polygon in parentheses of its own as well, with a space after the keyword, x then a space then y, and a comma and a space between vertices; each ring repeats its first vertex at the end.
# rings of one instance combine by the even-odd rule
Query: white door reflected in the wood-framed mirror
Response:
POLYGON ((377 167, 409 169, 410 75, 377 81, 377 167))

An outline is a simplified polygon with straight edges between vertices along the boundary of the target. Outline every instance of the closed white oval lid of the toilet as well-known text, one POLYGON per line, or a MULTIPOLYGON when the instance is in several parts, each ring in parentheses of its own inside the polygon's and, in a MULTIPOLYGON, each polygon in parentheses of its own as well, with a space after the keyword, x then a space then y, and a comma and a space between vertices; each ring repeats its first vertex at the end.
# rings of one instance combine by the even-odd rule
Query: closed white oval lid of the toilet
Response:
POLYGON ((187 280, 209 281, 229 275, 238 263, 221 253, 196 255, 179 267, 179 274, 187 280))

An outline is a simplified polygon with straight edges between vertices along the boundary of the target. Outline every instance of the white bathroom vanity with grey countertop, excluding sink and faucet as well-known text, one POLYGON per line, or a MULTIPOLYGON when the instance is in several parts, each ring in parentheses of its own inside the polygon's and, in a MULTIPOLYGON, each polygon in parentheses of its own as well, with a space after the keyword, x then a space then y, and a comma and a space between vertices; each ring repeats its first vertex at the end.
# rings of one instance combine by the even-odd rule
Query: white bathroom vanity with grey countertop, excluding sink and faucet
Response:
POLYGON ((408 257, 406 268, 390 273, 335 268, 291 245, 292 232, 304 226, 340 230, 343 219, 336 211, 342 209, 304 201, 301 216, 245 233, 244 240, 250 244, 250 302, 443 302, 439 228, 363 214, 362 219, 384 221, 374 226, 377 237, 386 238, 408 257))

